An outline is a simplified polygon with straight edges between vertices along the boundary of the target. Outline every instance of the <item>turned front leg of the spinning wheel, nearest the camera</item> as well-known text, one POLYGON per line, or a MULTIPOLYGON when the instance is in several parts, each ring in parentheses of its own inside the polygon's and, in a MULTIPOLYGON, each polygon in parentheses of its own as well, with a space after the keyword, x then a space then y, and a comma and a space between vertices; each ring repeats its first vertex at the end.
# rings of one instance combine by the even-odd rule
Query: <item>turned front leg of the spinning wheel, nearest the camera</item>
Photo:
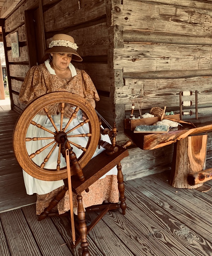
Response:
POLYGON ((82 247, 82 256, 90 256, 88 251, 88 241, 87 241, 87 227, 86 227, 86 217, 85 211, 82 204, 82 195, 77 195, 77 217, 78 217, 78 230, 81 235, 81 247, 82 247))

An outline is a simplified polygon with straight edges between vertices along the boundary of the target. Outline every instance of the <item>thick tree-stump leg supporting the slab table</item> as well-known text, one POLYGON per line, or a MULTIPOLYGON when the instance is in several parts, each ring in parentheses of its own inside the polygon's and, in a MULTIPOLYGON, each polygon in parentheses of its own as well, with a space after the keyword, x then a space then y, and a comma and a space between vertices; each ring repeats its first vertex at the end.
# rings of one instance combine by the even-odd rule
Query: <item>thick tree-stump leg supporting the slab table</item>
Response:
POLYGON ((205 169, 207 134, 188 136, 175 143, 169 184, 174 188, 198 188, 187 183, 189 173, 205 169))

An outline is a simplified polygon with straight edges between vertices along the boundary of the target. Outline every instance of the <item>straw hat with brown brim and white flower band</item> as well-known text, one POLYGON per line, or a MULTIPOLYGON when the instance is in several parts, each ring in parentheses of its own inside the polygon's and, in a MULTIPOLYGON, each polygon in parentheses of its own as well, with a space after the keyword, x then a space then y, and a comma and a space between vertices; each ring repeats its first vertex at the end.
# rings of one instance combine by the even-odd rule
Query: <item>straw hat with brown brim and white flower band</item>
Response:
POLYGON ((75 44, 73 37, 66 34, 56 34, 53 36, 46 53, 71 53, 72 60, 82 61, 80 55, 76 52, 78 46, 75 44))

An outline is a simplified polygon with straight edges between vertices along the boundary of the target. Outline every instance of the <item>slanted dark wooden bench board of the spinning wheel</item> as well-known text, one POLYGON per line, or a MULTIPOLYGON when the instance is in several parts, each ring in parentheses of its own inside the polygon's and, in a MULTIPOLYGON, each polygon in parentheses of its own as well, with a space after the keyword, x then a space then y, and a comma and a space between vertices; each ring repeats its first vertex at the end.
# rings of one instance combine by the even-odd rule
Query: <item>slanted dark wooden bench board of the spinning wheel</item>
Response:
POLYGON ((76 175, 71 176, 72 191, 76 194, 82 193, 82 191, 96 182, 96 180, 101 178, 110 169, 117 166, 124 157, 129 156, 127 149, 124 149, 121 146, 117 147, 119 148, 118 152, 112 155, 106 155, 105 151, 103 151, 87 163, 83 168, 85 177, 83 182, 81 182, 76 175))

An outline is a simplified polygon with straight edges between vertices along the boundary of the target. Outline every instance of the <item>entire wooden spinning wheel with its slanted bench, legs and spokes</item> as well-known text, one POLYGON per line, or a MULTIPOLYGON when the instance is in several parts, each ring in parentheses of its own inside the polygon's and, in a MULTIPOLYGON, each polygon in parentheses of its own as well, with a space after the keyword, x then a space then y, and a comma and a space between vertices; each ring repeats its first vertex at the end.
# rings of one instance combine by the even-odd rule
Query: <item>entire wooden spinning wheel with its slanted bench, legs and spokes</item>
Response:
POLYGON ((82 191, 88 192, 90 185, 110 171, 111 168, 117 166, 119 200, 123 215, 126 209, 124 180, 120 161, 129 155, 126 146, 129 146, 131 142, 128 141, 123 146, 116 145, 115 124, 111 131, 109 129, 101 129, 101 134, 100 121, 89 102, 76 94, 64 91, 45 94, 31 102, 19 117, 13 133, 14 154, 25 172, 40 180, 64 180, 64 188, 55 196, 49 206, 43 210, 39 216, 39 221, 49 215, 52 216, 52 208, 57 205, 66 191, 69 190, 72 241, 74 246, 81 241, 82 256, 90 256, 87 241, 89 230, 98 223, 108 210, 119 208, 118 203, 115 205, 99 205, 94 208, 92 206, 88 207, 87 211, 101 210, 102 212, 87 229, 82 204, 82 191), (59 115, 51 116, 52 108, 57 108, 59 103, 61 103, 59 115), (74 106, 74 112, 69 119, 64 118, 64 106, 66 103, 74 106), (82 114, 85 118, 82 118, 82 114), (42 121, 42 124, 39 120, 42 121), (36 135, 33 135, 33 131, 36 131, 36 135), (101 140, 101 134, 108 134, 109 132, 112 132, 112 145, 106 144, 105 141, 101 140), (30 133, 32 135, 29 136, 30 133), (76 143, 74 141, 75 138, 78 141, 82 141, 82 144, 76 143), (35 145, 36 149, 34 150, 35 147, 33 147, 34 151, 29 152, 27 143, 37 143, 35 145), (42 146, 40 146, 41 144, 42 146), (106 154, 101 152, 93 157, 98 145, 106 149, 106 154), (62 159, 64 159, 63 157, 61 158, 61 154, 66 159, 67 165, 66 163, 61 165, 62 159), (36 156, 39 156, 40 162, 36 160, 36 156), (54 159, 55 156, 57 156, 56 159, 54 159), (74 174, 77 174, 78 177, 74 174), (77 240, 75 239, 75 224, 73 220, 72 191, 77 195, 78 230, 80 233, 80 237, 77 240))

